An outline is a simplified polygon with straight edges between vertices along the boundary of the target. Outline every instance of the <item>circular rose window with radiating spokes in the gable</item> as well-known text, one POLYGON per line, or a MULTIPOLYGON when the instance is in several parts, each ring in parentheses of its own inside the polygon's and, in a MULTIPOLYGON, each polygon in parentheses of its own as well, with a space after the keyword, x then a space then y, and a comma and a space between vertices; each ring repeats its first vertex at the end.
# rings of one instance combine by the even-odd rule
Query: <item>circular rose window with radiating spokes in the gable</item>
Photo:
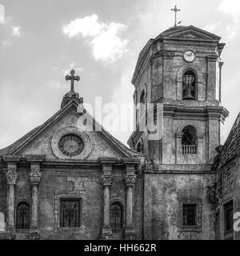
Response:
POLYGON ((83 150, 84 143, 77 134, 66 134, 58 142, 58 148, 66 156, 74 157, 83 150))

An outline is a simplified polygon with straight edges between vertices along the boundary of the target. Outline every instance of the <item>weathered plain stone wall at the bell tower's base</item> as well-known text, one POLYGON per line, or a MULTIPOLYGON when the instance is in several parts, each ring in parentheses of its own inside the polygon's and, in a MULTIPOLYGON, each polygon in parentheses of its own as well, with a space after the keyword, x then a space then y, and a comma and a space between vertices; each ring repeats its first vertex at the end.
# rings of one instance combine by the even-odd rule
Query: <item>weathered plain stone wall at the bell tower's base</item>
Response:
POLYGON ((146 174, 144 186, 145 239, 214 239, 214 174, 146 174), (179 230, 179 199, 202 201, 202 231, 179 230))

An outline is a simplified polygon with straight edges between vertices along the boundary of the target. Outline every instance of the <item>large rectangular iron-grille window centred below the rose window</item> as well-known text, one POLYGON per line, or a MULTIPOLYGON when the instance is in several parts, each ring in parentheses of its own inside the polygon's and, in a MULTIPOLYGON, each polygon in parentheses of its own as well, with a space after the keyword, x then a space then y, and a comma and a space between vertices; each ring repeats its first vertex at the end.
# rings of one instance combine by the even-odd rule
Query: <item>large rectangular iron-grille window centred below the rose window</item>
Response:
POLYGON ((60 199, 60 227, 81 226, 81 199, 60 199))

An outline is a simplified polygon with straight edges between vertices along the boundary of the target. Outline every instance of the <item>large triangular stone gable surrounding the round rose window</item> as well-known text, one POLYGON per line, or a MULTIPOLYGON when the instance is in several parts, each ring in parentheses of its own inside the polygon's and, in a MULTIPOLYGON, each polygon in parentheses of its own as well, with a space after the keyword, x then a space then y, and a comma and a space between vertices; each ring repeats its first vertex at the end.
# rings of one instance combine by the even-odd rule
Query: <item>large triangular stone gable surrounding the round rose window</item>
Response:
POLYGON ((72 100, 42 126, 38 126, 17 142, 0 150, 1 154, 18 154, 23 157, 30 154, 42 154, 49 159, 97 160, 106 157, 131 158, 136 155, 136 152, 111 136, 84 110, 82 104, 72 100), (86 122, 84 122, 84 127, 81 126, 82 122, 79 122, 82 113, 85 113, 86 122), (78 155, 74 157, 66 156, 58 149, 59 139, 64 134, 72 133, 82 138, 83 150, 79 157, 78 155))

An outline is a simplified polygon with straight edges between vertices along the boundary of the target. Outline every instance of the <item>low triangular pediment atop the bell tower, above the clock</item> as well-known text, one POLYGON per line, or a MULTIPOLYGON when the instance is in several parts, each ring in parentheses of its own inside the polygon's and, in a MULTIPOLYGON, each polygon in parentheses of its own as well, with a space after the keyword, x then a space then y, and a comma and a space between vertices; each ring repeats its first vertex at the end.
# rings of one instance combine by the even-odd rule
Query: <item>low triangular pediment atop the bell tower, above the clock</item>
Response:
POLYGON ((195 26, 180 26, 164 31, 159 35, 161 38, 192 39, 204 41, 219 41, 221 38, 195 26))

